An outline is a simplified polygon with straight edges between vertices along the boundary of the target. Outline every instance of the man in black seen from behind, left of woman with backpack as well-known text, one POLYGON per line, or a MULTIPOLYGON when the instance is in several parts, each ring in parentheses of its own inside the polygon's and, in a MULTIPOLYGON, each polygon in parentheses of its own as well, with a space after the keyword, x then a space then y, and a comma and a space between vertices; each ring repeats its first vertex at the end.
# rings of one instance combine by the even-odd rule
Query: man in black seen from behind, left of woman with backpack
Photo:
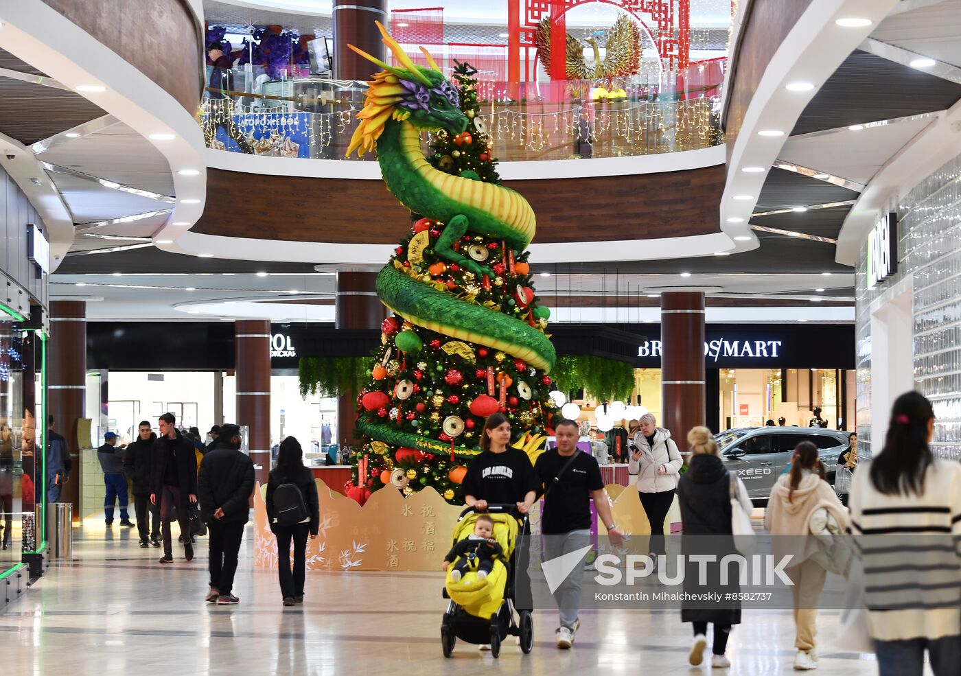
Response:
POLYGON ((234 604, 234 572, 249 510, 247 500, 254 491, 254 463, 240 450, 240 428, 225 424, 220 443, 200 463, 198 492, 200 511, 209 526, 211 603, 234 604))

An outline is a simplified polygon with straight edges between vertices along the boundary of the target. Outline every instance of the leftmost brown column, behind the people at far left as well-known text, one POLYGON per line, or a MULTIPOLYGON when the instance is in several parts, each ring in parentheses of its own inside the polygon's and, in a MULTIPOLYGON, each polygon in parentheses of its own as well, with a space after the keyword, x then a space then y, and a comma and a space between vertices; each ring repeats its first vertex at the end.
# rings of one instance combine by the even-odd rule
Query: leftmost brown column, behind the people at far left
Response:
MULTIPOLYGON (((49 384, 47 410, 44 414, 54 417, 54 431, 60 432, 66 438, 66 445, 70 448, 73 471, 70 473, 70 480, 63 486, 61 501, 73 503, 73 520, 79 523, 83 468, 80 447, 90 444, 89 439, 77 439, 77 421, 86 417, 86 303, 51 302, 50 322, 50 343, 47 346, 49 384)), ((46 423, 37 421, 37 427, 46 423)))

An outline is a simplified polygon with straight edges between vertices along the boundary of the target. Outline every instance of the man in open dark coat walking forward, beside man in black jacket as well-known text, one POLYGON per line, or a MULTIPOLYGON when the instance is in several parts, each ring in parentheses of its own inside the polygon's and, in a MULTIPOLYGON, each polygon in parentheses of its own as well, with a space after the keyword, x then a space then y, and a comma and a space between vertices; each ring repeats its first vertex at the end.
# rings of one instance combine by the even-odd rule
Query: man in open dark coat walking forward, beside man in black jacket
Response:
POLYGON ((174 508, 177 509, 177 522, 180 524, 184 541, 185 559, 193 559, 190 516, 187 510, 191 503, 197 502, 197 461, 193 444, 177 429, 176 422, 177 419, 172 413, 160 416, 160 438, 154 442, 150 504, 160 505, 160 534, 163 536, 161 564, 174 562, 173 547, 170 543, 170 519, 174 508))

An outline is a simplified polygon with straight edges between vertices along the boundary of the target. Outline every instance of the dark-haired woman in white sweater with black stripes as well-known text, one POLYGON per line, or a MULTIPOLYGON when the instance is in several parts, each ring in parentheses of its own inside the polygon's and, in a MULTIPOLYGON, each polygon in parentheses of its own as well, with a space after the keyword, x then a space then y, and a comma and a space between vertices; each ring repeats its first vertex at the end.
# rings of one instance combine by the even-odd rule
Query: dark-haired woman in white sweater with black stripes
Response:
POLYGON ((901 395, 884 448, 850 490, 880 676, 961 674, 961 464, 937 458, 931 403, 901 395))

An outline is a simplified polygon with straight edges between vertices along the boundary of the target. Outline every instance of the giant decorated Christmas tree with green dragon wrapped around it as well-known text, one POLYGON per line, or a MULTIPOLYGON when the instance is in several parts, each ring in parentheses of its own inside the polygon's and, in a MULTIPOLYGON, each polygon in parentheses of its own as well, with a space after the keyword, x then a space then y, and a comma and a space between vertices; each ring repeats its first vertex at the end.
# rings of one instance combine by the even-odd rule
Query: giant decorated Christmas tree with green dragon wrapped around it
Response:
MULTIPOLYGON (((403 55, 385 33, 384 42, 403 55)), ((499 184, 476 71, 458 64, 455 88, 432 60, 428 69, 405 59, 407 70, 377 61, 385 70, 370 83, 352 145, 376 147, 388 189, 411 211, 377 282, 393 314, 357 397, 364 443, 349 495, 360 502, 384 486, 431 486, 455 501, 486 416, 504 412, 512 441, 532 450, 555 414, 550 311, 534 294, 526 251, 533 212, 499 184), (430 163, 416 129, 433 132, 430 163)))

